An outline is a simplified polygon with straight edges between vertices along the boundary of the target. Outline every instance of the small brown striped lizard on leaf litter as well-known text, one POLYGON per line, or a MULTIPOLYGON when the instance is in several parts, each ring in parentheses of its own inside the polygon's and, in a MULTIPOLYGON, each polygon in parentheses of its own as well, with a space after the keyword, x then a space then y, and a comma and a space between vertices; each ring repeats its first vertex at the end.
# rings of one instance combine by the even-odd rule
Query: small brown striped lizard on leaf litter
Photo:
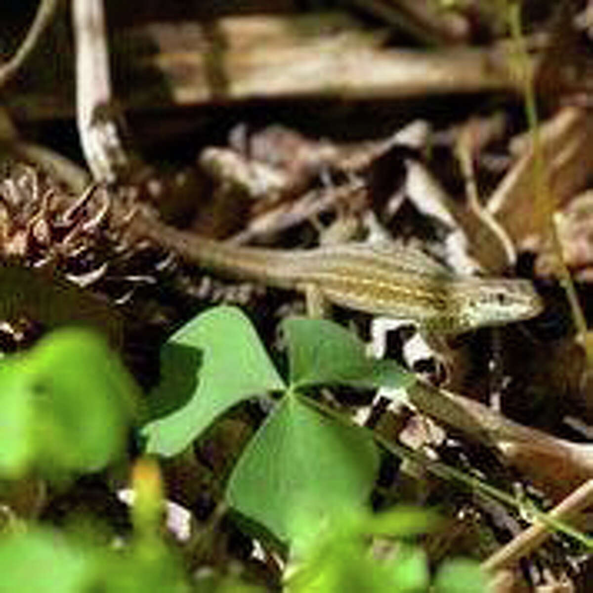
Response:
POLYGON ((283 289, 315 292, 333 304, 416 321, 422 329, 463 333, 535 317, 543 304, 526 279, 456 276, 410 247, 343 244, 307 250, 234 246, 161 222, 136 207, 133 237, 174 251, 189 263, 283 289))

